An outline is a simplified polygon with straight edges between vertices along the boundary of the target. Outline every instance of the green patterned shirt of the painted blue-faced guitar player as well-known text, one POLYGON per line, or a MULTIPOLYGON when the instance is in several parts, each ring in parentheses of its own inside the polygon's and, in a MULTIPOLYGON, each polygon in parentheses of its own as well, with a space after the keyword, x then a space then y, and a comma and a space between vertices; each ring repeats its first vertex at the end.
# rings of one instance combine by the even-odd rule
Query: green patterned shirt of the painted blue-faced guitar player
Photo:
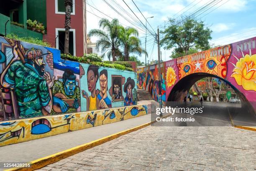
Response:
MULTIPOLYGON (((52 87, 52 95, 54 96, 56 93, 62 93, 64 94, 67 99, 75 99, 77 98, 78 100, 80 100, 80 88, 76 87, 74 90, 74 95, 66 95, 65 90, 64 90, 64 83, 62 83, 59 80, 54 80, 54 85, 52 87)), ((76 108, 73 107, 69 107, 68 110, 66 111, 66 113, 74 113, 77 112, 76 108)), ((57 115, 57 114, 61 114, 61 113, 56 113, 54 112, 54 110, 51 110, 51 115, 57 115)))

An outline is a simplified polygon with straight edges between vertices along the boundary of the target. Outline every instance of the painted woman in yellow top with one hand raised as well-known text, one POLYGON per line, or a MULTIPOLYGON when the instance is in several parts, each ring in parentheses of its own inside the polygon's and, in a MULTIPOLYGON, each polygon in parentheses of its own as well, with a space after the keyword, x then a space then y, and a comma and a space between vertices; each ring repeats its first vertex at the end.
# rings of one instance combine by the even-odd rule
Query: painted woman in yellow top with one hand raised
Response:
POLYGON ((87 69, 87 85, 91 96, 88 96, 88 93, 82 90, 82 96, 87 101, 87 111, 95 111, 99 108, 99 99, 96 96, 96 83, 99 78, 98 69, 99 67, 95 65, 90 65, 87 69))

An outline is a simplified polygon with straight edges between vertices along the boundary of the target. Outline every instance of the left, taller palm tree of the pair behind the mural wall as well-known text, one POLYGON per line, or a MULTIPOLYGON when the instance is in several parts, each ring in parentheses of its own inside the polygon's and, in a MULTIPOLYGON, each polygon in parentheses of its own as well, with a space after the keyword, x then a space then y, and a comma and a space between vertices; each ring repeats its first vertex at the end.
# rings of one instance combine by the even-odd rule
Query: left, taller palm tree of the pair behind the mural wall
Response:
POLYGON ((99 39, 96 42, 96 48, 104 52, 110 60, 112 56, 113 61, 116 60, 115 56, 120 54, 118 49, 120 46, 119 35, 119 22, 118 19, 113 19, 111 22, 108 19, 102 18, 99 22, 100 29, 92 29, 89 32, 89 36, 97 36, 99 39))

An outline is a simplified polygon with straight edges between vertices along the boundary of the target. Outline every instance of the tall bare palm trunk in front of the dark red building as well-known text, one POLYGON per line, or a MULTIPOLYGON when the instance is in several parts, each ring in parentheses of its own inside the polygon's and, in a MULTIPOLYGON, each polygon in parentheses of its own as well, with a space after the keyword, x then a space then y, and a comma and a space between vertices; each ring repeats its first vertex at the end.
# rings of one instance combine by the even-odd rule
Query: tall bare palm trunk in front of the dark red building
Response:
POLYGON ((73 0, 64 1, 66 12, 65 12, 65 44, 64 53, 69 53, 69 29, 71 23, 71 8, 73 8, 73 0))

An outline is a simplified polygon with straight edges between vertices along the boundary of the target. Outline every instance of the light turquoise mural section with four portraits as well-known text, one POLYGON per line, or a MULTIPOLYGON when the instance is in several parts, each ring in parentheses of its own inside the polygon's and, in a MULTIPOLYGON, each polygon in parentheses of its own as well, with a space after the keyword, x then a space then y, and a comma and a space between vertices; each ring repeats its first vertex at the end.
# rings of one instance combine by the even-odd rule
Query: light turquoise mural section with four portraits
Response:
POLYGON ((136 105, 136 75, 131 71, 81 63, 82 111, 136 105), (125 81, 126 79, 126 81, 125 81), (127 93, 128 92, 128 93, 127 93), (126 94, 125 94, 126 93, 126 94), (125 96, 126 95, 126 96, 125 96))

